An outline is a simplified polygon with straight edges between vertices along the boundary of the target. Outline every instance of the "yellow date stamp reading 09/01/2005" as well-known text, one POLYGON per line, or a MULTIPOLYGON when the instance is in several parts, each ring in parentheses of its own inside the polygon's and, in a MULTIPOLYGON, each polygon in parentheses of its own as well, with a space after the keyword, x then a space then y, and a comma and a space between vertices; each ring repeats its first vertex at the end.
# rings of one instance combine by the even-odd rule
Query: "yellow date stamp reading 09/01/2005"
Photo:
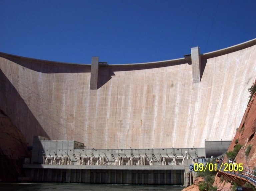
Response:
POLYGON ((209 170, 209 171, 243 171, 244 167, 243 167, 243 163, 220 163, 220 164, 217 164, 217 163, 206 163, 206 164, 203 164, 203 163, 195 163, 194 164, 194 171, 197 172, 197 171, 206 171, 206 170, 209 170))

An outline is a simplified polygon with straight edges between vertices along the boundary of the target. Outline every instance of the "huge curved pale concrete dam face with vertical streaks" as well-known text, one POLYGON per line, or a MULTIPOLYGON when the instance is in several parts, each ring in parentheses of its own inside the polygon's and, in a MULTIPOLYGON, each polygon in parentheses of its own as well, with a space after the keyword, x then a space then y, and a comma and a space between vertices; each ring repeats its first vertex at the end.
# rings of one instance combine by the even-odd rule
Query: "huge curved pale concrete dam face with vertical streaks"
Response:
POLYGON ((71 64, 0 53, 0 109, 33 136, 95 148, 232 140, 256 77, 256 39, 175 60, 71 64))

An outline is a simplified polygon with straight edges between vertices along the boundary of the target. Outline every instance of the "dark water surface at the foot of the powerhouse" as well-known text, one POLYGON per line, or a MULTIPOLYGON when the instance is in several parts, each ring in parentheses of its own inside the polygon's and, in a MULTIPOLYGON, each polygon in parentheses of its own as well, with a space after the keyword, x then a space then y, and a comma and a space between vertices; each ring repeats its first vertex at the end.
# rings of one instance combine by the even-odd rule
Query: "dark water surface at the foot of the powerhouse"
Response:
POLYGON ((120 184, 80 184, 80 183, 0 183, 3 191, 180 191, 183 188, 169 185, 120 185, 120 184))

